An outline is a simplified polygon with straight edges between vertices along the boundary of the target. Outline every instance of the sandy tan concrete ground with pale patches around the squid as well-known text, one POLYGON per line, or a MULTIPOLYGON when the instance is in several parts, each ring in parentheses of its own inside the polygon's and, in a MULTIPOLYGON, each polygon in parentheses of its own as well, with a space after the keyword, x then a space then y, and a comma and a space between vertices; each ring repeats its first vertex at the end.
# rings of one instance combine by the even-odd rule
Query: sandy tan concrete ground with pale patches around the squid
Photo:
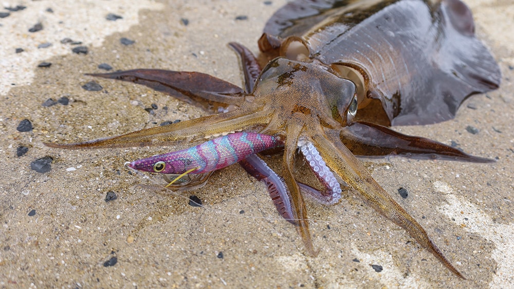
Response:
POLYGON ((355 193, 344 195, 330 208, 309 204, 309 216, 316 220, 310 228, 320 248, 313 258, 304 254, 295 228, 277 218, 263 185, 237 166, 215 173, 206 187, 192 192, 206 204, 202 209, 189 206, 185 198, 136 186, 148 181, 123 167, 125 161, 177 149, 173 144, 87 151, 43 146, 48 141, 119 135, 164 120, 205 115, 194 106, 128 83, 97 80, 103 91, 85 91, 81 86, 92 78, 83 74, 102 71, 97 66, 105 62, 115 70, 203 71, 241 84, 237 58, 226 44, 238 41, 257 51, 256 40, 266 19, 285 1, 139 3, 4 3, 27 8, 0 19, 0 286, 514 286, 514 5, 510 0, 466 1, 479 37, 500 63, 501 88, 468 99, 454 120, 397 128, 445 143, 455 141, 466 152, 498 161, 364 160, 378 183, 424 226, 467 280, 453 276, 355 193), (106 21, 108 13, 123 19, 106 21), (235 20, 239 15, 247 20, 235 20), (27 32, 38 22, 43 30, 27 32), (82 41, 87 55, 71 53, 77 45, 61 44, 66 37, 82 41), (122 45, 122 37, 135 43, 122 45), (52 46, 37 48, 46 42, 52 46), (25 51, 14 53, 17 47, 25 51), (52 65, 36 67, 43 61, 52 65), (70 103, 42 106, 48 98, 61 97, 70 103), (144 110, 152 103, 158 106, 155 114, 144 110), (165 105, 168 110, 162 109, 165 105), (33 131, 16 131, 26 118, 33 131), (479 133, 467 132, 468 125, 479 133), (19 146, 29 148, 21 157, 16 156, 19 146), (51 170, 31 170, 30 162, 44 156, 54 159, 51 170), (405 200, 396 193, 400 187, 409 191, 405 200), (117 200, 106 203, 108 191, 115 192, 117 200), (371 265, 381 265, 382 272, 371 265))

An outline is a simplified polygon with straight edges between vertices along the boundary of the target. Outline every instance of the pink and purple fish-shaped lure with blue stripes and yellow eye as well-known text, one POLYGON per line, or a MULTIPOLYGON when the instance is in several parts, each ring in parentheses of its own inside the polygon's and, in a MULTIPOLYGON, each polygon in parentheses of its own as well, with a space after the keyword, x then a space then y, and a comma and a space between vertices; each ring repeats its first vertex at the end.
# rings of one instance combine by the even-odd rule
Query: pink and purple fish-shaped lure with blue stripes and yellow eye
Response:
POLYGON ((249 155, 280 145, 282 142, 277 137, 241 132, 218 137, 189 149, 138 159, 128 166, 164 174, 182 174, 197 168, 190 173, 200 174, 223 169, 249 155))

